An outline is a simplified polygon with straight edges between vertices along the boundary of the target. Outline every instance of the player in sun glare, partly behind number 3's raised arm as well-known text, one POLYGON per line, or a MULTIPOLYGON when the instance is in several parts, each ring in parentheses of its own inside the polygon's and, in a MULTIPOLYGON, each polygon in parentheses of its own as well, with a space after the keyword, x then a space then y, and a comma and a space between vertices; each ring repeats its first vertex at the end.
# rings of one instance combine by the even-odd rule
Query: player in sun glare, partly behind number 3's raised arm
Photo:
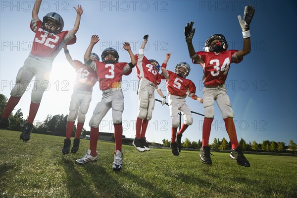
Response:
MULTIPOLYGON (((84 127, 86 120, 86 114, 88 112, 90 102, 92 100, 93 86, 98 81, 97 73, 89 66, 86 66, 78 60, 73 60, 70 56, 67 45, 64 46, 64 53, 67 61, 76 71, 76 78, 73 87, 73 94, 69 105, 69 114, 66 127, 66 138, 64 139, 64 146, 62 149, 63 155, 68 154, 71 145, 71 134, 73 131, 74 123, 77 118, 77 127, 75 132, 75 138, 73 140, 73 146, 71 153, 76 153, 79 148, 79 136, 84 127)), ((99 56, 95 53, 91 53, 90 59, 99 61, 99 56)))

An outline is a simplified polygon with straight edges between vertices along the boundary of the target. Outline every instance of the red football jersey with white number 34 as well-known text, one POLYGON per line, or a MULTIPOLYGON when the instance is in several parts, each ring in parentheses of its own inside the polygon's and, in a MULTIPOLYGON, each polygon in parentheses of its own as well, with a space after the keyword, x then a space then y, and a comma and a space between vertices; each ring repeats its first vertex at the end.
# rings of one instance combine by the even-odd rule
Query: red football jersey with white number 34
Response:
MULTIPOLYGON (((232 55, 238 50, 228 50, 215 54, 214 52, 197 52, 200 55, 203 63, 200 65, 203 67, 203 82, 205 85, 217 86, 223 84, 227 78, 232 55)), ((243 59, 234 63, 240 63, 243 59)), ((198 64, 193 60, 194 64, 198 64)))

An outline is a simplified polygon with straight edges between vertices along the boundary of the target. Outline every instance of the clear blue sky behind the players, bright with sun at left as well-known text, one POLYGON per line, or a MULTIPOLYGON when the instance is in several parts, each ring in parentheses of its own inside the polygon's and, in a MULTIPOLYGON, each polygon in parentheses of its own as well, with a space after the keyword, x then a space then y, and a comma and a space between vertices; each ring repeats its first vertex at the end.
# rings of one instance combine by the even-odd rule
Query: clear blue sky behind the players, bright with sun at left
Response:
MULTIPOLYGON (((16 74, 28 57, 34 33, 30 30, 32 1, 0 0, 0 92, 9 98, 16 74)), ((232 64, 227 78, 227 93, 235 113, 238 139, 247 142, 263 140, 297 142, 297 2, 260 1, 46 1, 40 9, 42 19, 48 12, 58 12, 64 19, 64 30, 72 29, 76 12, 72 8, 82 4, 84 13, 77 43, 69 46, 73 59, 83 61, 92 34, 98 34, 100 42, 94 47, 99 56, 106 47, 118 50, 120 62, 130 62, 122 43, 131 43, 134 54, 138 53, 143 36, 149 34, 145 55, 163 63, 166 53, 171 53, 167 68, 174 70, 180 62, 191 66, 188 76, 197 86, 197 95, 202 96, 201 66, 193 65, 189 58, 184 39, 187 22, 195 21, 196 33, 193 39, 197 51, 203 51, 205 40, 212 34, 223 34, 229 49, 241 50, 242 30, 237 15, 244 13, 247 4, 255 6, 255 14, 250 25, 251 52, 240 64, 232 64)), ((68 64, 64 53, 53 62, 50 87, 45 92, 36 122, 44 121, 47 115, 68 114, 72 94, 74 69, 68 64)), ((22 109, 28 116, 32 91, 25 92, 15 111, 22 109)), ((123 113, 123 134, 134 138, 135 121, 138 112, 136 95, 138 80, 135 72, 123 77, 125 110, 123 113)), ((161 83, 166 93, 165 82, 161 83)), ((160 97, 155 93, 156 99, 160 97)), ((96 84, 93 98, 86 116, 85 128, 96 104, 101 99, 99 85, 96 84)), ((187 98, 192 111, 204 113, 203 106, 187 98)), ((15 111, 13 113, 15 113, 15 111)), ((194 115, 194 123, 184 133, 190 141, 202 138, 203 117, 194 115)), ((113 132, 111 111, 105 116, 100 132, 113 132)), ((152 120, 146 133, 147 140, 161 143, 170 139, 171 119, 169 107, 155 104, 152 120)), ((217 105, 210 134, 213 138, 229 140, 224 122, 217 105)))

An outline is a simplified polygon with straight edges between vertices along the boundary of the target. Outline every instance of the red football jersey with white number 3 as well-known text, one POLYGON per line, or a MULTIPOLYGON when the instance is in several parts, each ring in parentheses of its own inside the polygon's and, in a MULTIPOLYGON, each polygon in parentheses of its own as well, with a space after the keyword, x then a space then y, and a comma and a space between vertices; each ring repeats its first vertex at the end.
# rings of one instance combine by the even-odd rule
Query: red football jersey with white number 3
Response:
POLYGON ((123 74, 123 68, 127 66, 127 63, 106 64, 97 60, 94 62, 97 68, 99 87, 102 91, 121 87, 122 76, 129 75, 132 72, 132 69, 130 69, 123 74))

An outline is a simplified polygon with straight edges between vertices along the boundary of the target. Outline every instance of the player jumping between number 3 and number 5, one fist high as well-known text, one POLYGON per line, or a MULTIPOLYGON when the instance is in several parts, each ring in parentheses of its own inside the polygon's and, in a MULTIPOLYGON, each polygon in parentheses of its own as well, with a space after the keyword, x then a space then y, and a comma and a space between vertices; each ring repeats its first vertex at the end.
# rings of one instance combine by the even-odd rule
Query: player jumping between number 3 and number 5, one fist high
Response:
POLYGON ((140 83, 138 88, 139 111, 136 120, 136 135, 132 144, 140 152, 150 150, 146 140, 146 131, 154 109, 154 90, 162 97, 162 106, 166 103, 166 96, 158 88, 158 84, 161 82, 161 75, 159 74, 161 66, 157 61, 148 60, 144 55, 147 42, 148 35, 145 35, 139 54, 135 55, 137 61, 136 75, 140 79, 140 83))

